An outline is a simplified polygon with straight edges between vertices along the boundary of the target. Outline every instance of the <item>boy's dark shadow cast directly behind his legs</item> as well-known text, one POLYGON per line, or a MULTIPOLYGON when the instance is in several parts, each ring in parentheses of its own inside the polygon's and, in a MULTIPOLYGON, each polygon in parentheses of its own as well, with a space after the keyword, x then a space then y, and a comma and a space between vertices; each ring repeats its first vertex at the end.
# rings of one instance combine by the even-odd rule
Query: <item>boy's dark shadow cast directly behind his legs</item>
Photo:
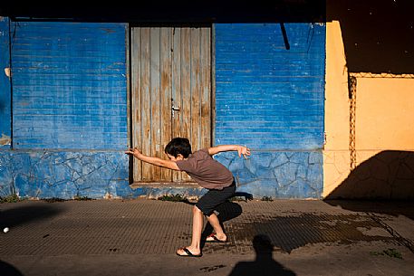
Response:
MULTIPOLYGON (((216 211, 215 213, 217 214, 220 225, 226 233, 226 228, 223 223, 242 214, 242 207, 234 202, 226 201, 224 204, 219 205, 216 211)), ((203 233, 201 233, 201 248, 204 247, 207 236, 211 233, 213 233, 213 227, 207 223, 203 233)))

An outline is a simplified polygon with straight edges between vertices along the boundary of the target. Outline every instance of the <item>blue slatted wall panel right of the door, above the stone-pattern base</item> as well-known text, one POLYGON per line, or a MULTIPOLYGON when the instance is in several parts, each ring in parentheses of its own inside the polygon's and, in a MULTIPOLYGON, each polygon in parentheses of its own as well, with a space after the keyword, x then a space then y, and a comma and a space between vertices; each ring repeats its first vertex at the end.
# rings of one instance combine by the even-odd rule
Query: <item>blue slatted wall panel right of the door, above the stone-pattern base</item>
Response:
POLYGON ((323 148, 325 26, 216 24, 216 144, 323 148))

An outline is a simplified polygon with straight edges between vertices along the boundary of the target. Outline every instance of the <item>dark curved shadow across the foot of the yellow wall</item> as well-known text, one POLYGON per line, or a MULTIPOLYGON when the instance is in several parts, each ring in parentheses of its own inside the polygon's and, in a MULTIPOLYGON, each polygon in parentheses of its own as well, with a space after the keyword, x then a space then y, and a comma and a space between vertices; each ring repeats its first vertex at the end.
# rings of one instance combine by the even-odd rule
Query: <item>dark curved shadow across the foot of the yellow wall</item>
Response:
POLYGON ((414 199, 414 152, 386 150, 369 158, 326 199, 414 199))

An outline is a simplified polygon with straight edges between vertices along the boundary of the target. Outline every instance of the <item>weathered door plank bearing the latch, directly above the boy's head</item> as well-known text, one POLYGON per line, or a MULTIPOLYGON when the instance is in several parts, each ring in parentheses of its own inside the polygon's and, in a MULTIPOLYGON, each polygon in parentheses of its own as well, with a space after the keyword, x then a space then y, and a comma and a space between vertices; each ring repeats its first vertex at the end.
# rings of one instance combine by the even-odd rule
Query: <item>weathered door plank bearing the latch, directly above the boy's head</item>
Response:
MULTIPOLYGON (((183 103, 181 98, 181 28, 173 28, 173 45, 172 45, 172 99, 181 109, 176 112, 172 119, 172 138, 182 137, 181 124, 183 118, 183 103)), ((174 171, 172 181, 179 182, 182 180, 182 174, 174 171)))

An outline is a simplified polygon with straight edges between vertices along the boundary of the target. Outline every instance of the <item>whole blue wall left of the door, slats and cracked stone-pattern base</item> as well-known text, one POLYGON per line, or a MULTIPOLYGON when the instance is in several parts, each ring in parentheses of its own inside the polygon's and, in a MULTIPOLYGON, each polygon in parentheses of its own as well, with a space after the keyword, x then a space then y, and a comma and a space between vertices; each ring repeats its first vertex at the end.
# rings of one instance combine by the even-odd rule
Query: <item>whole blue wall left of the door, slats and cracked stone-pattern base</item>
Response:
MULTIPOLYGON (((9 29, 0 28, 5 64, 9 29)), ((131 190, 124 154, 126 32, 127 24, 12 22, 13 145, 0 148, 0 196, 145 193, 131 190)), ((10 89, 0 89, 10 106, 10 89)), ((11 113, 2 110, 2 131, 11 113)))

